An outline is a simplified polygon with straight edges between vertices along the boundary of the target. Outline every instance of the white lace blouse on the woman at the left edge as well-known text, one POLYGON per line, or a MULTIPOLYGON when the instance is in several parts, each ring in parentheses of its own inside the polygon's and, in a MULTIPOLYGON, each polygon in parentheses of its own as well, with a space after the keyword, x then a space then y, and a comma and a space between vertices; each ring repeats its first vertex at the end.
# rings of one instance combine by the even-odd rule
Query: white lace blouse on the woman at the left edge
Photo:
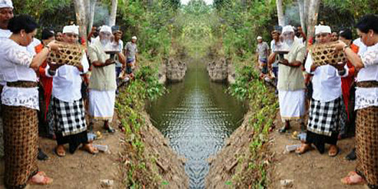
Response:
MULTIPOLYGON (((6 82, 28 80, 36 82, 36 72, 30 68, 33 55, 25 47, 9 38, 1 40, 0 78, 6 82)), ((4 86, 1 103, 7 106, 25 106, 39 109, 38 88, 4 86)))

